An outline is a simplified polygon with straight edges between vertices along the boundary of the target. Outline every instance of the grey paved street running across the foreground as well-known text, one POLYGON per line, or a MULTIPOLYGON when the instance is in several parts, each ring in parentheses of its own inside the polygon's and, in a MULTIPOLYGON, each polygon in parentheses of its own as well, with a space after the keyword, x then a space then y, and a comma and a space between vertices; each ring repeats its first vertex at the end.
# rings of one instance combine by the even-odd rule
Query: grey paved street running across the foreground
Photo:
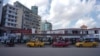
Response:
POLYGON ((30 48, 19 44, 15 47, 1 46, 0 56, 100 56, 100 45, 97 48, 77 48, 74 46, 30 48))

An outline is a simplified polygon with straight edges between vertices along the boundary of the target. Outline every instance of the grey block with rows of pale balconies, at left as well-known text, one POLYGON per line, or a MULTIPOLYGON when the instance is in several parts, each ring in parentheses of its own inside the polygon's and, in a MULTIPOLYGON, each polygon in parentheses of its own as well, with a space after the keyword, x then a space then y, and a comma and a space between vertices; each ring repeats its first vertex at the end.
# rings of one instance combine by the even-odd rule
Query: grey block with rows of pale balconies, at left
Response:
POLYGON ((16 28, 17 26, 17 8, 6 4, 3 7, 2 26, 16 28))

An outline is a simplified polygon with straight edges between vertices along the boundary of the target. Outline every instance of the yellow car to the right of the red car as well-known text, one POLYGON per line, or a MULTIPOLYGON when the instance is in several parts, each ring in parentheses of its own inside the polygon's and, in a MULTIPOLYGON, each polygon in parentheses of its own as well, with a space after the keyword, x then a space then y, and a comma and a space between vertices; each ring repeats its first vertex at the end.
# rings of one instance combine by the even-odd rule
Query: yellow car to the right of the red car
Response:
POLYGON ((80 41, 75 44, 76 47, 96 47, 98 43, 95 41, 80 41))

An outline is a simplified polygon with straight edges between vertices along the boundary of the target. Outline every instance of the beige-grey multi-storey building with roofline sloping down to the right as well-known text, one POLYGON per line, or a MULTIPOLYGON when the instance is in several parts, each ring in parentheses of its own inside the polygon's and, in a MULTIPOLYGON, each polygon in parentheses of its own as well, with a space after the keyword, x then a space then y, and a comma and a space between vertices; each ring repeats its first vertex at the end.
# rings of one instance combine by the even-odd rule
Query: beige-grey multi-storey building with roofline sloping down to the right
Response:
POLYGON ((33 13, 32 10, 25 7, 23 4, 21 4, 18 1, 14 3, 14 6, 18 8, 17 18, 20 18, 18 19, 18 25, 17 25, 18 28, 22 28, 22 29, 34 28, 37 31, 40 30, 41 17, 39 15, 36 15, 38 12, 36 14, 33 13))

